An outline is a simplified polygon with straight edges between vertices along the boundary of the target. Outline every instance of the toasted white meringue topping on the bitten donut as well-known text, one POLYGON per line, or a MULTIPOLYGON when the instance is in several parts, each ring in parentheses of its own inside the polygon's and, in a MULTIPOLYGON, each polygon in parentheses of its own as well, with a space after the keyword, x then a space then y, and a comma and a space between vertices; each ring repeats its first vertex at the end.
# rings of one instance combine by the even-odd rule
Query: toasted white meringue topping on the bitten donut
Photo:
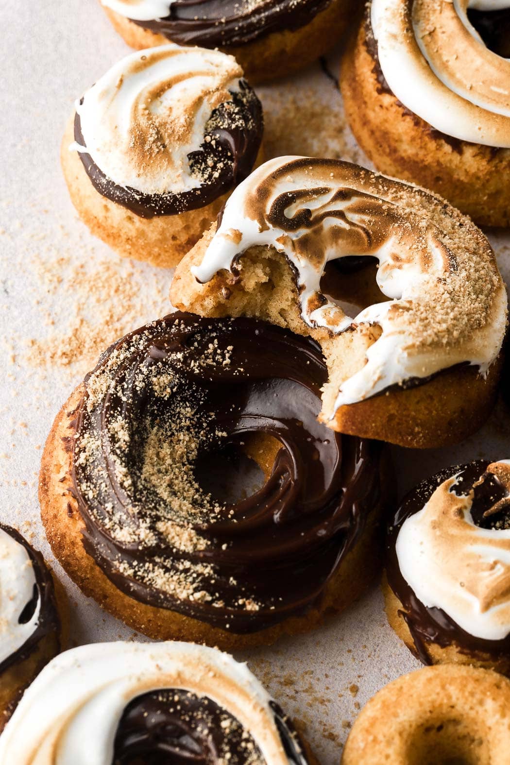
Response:
POLYGON ((411 184, 342 161, 280 157, 234 190, 199 282, 236 269, 242 253, 270 246, 293 266, 303 321, 333 334, 382 333, 346 379, 340 405, 457 363, 486 373, 502 346, 506 292, 489 243, 456 210, 411 184), (326 263, 375 256, 390 300, 347 316, 320 288, 326 263))

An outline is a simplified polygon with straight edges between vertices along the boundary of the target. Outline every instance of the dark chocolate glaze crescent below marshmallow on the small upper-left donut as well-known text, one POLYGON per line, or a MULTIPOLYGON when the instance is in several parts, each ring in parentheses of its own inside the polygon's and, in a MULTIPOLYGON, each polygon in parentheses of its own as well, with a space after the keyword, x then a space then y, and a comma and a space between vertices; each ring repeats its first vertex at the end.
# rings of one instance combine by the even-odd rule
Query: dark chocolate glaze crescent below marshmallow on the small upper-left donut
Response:
MULTIPOLYGON (((264 130, 262 107, 255 91, 245 80, 240 80, 240 87, 240 93, 232 93, 231 102, 222 103, 213 110, 206 123, 200 150, 188 155, 191 173, 196 172, 201 179, 199 187, 181 194, 141 194, 134 188, 115 184, 89 154, 80 151, 80 159, 93 187, 103 197, 122 204, 141 218, 197 210, 232 190, 252 172, 264 130), (230 109, 232 104, 233 110, 230 109), (209 167, 212 170, 203 177, 202 168, 209 167)), ((77 113, 74 138, 81 146, 85 145, 77 113)))

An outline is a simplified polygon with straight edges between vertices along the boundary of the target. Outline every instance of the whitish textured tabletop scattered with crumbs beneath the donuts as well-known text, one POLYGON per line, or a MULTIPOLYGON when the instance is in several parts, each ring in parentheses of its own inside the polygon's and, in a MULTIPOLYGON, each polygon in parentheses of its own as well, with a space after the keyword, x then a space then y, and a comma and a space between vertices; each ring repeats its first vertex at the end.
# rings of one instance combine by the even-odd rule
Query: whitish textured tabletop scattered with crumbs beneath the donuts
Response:
MULTIPOLYGON (((170 276, 122 262, 93 239, 77 220, 60 174, 60 136, 73 100, 128 52, 99 5, 1 0, 0 28, 0 519, 18 526, 52 560, 39 519, 37 470, 54 415, 86 371, 83 359, 63 365, 55 349, 72 341, 73 348, 83 347, 85 364, 92 363, 89 330, 94 337, 104 333, 106 345, 115 339, 112 328, 124 332, 164 314, 170 276)), ((336 73, 335 57, 330 68, 336 73)), ((273 148, 362 156, 343 129, 339 93, 320 67, 258 92, 273 148), (303 114, 310 109, 314 135, 306 127, 284 128, 296 105, 303 114)), ((489 236, 508 279, 508 236, 489 236)), ((459 448, 395 449, 400 495, 447 464, 509 457, 509 425, 500 403, 486 427, 459 448)), ((55 569, 73 604, 74 643, 140 639, 55 569)), ((322 629, 242 658, 304 722, 323 765, 338 763, 359 705, 418 666, 386 624, 377 586, 322 629)))

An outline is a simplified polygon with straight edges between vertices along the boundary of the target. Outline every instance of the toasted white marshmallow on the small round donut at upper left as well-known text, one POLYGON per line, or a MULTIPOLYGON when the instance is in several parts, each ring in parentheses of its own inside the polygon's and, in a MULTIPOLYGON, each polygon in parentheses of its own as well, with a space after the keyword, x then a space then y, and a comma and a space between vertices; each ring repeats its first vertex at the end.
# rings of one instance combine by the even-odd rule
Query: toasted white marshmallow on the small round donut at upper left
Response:
POLYGON ((141 194, 200 187, 188 155, 206 122, 239 93, 242 69, 217 50, 174 44, 140 50, 116 63, 76 103, 84 145, 110 181, 141 194))

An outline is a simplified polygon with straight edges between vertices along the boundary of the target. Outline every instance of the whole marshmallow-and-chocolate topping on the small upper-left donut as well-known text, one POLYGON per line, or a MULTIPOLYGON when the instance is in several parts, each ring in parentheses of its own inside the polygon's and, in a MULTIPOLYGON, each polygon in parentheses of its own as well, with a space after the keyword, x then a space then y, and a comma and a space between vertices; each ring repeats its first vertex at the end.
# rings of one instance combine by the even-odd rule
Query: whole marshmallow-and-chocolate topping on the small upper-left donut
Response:
POLYGON ((245 178, 261 130, 232 57, 169 44, 125 57, 85 93, 70 148, 103 196, 142 217, 174 215, 245 178))

